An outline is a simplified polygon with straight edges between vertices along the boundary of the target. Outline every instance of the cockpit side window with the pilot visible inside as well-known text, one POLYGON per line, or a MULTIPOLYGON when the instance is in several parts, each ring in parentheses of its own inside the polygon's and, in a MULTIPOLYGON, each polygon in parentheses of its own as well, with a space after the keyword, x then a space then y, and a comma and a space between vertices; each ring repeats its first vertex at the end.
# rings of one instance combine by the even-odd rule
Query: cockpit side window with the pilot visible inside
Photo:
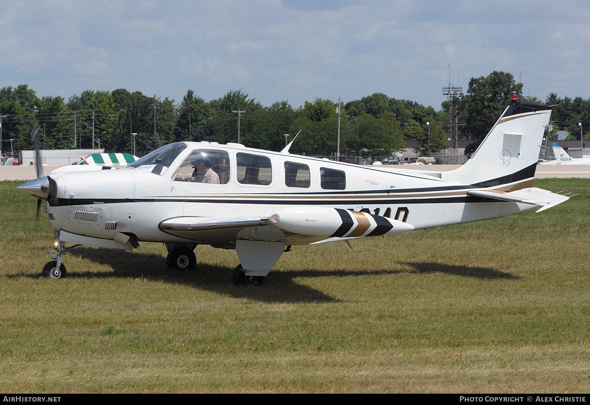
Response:
POLYGON ((227 184, 230 181, 230 156, 225 151, 196 149, 179 166, 174 181, 227 184))

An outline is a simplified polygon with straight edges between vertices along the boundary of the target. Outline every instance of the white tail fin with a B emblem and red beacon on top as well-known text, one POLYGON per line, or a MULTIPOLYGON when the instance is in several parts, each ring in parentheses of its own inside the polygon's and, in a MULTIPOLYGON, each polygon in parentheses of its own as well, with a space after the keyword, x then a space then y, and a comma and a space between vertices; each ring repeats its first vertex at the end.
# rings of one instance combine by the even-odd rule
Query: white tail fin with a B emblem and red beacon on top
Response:
POLYGON ((548 106, 513 98, 473 156, 444 178, 501 191, 530 187, 550 115, 548 106))

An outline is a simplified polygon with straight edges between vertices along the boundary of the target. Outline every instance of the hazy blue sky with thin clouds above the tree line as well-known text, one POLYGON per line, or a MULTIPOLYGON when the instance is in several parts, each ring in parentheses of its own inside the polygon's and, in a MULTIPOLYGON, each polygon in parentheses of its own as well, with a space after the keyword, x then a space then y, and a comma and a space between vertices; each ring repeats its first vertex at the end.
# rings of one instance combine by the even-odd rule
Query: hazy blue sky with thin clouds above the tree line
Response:
POLYGON ((440 109, 494 70, 523 92, 590 98, 585 1, 0 0, 0 87, 66 100, 127 89, 265 106, 382 92, 440 109))

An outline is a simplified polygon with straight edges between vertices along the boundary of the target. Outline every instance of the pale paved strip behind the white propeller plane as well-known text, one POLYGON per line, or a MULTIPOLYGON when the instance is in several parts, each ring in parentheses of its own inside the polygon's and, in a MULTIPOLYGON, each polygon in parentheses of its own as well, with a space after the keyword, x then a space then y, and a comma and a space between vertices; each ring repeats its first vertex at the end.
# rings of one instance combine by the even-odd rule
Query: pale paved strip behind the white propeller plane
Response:
MULTIPOLYGON (((61 166, 43 166, 43 174, 47 175, 61 166)), ((412 169, 422 171, 450 171, 459 165, 404 165, 404 166, 375 166, 380 169, 412 169)), ((2 180, 30 180, 37 177, 35 166, 0 166, 0 181, 2 180)), ((590 178, 590 165, 537 165, 535 178, 590 178)))

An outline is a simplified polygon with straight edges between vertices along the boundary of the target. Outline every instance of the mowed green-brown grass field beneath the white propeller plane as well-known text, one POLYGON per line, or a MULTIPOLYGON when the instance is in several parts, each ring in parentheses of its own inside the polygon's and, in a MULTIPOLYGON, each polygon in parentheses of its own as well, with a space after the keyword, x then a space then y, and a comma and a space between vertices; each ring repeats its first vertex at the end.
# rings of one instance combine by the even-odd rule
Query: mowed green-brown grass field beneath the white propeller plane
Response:
POLYGON ((590 180, 542 213, 296 246, 262 287, 233 251, 92 247, 0 182, 0 387, 14 393, 576 393, 590 386, 590 180))

